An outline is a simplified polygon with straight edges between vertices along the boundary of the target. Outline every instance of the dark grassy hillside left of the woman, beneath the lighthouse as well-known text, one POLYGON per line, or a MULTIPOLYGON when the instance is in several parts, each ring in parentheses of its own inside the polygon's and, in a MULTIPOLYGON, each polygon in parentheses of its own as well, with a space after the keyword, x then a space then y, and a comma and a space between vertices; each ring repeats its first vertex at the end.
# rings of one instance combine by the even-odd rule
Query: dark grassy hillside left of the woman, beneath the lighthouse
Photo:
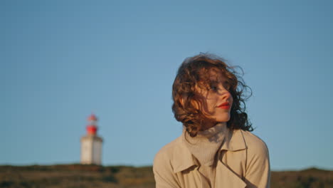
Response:
POLYGON ((152 167, 102 167, 83 164, 0 166, 0 187, 149 188, 154 187, 154 176, 152 167))

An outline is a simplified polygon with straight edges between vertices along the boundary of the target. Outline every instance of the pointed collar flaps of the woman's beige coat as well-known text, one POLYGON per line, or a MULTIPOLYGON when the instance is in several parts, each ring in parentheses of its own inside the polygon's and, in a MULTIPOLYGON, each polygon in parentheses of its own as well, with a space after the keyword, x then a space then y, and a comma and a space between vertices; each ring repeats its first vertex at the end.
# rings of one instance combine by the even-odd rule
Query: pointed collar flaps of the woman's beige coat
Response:
MULTIPOLYGON (((191 152, 189 152, 189 149, 187 149, 186 145, 181 140, 181 137, 178 138, 177 142, 179 147, 176 148, 174 156, 172 157, 174 160, 172 162, 174 164, 174 172, 181 172, 192 166, 198 167, 199 162, 197 162, 196 158, 191 154, 191 152)), ((228 135, 226 136, 220 150, 236 152, 238 150, 245 149, 246 145, 242 130, 228 130, 228 135)))

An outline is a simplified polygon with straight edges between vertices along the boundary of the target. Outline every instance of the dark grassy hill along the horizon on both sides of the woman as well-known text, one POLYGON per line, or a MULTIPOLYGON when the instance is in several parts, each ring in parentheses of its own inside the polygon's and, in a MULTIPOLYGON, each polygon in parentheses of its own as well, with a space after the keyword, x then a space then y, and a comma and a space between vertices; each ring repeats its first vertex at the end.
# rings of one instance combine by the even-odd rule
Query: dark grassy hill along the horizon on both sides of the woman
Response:
MULTIPOLYGON (((150 188, 155 186, 152 167, 63 164, 0 166, 0 187, 150 188)), ((302 171, 272 172, 271 187, 333 188, 333 171, 311 168, 302 171)))

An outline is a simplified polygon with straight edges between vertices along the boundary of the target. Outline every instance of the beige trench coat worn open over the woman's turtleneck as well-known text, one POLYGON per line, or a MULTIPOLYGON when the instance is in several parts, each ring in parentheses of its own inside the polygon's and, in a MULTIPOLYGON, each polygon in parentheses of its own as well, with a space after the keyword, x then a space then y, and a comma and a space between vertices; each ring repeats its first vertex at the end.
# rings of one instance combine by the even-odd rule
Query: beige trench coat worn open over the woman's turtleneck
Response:
MULTIPOLYGON (((248 131, 230 133, 221 147, 213 188, 270 187, 270 161, 265 142, 248 131)), ((206 188, 199 167, 178 137, 162 147, 154 159, 156 187, 206 188)))

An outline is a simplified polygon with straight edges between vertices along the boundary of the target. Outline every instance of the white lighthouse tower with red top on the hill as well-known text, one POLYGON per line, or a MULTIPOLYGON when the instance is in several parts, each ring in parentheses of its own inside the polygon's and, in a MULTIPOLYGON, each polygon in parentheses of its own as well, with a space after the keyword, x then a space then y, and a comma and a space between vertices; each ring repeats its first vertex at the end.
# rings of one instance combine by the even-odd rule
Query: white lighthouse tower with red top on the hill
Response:
POLYGON ((97 117, 88 117, 87 135, 81 137, 81 164, 102 163, 102 138, 97 136, 97 117))

